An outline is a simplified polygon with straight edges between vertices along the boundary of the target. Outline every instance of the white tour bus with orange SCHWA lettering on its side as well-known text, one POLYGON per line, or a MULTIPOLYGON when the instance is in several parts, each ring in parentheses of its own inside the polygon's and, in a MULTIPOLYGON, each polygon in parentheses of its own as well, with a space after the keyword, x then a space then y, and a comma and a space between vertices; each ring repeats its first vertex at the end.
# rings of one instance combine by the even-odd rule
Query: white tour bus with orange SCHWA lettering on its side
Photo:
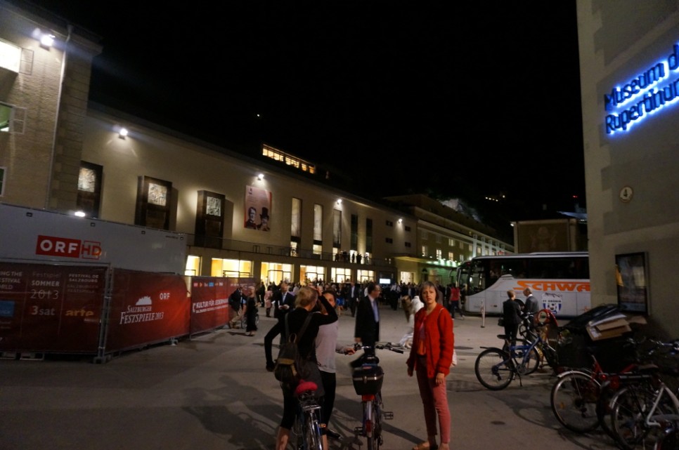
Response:
POLYGON ((531 288, 540 310, 575 317, 590 309, 589 256, 586 252, 478 256, 457 270, 460 291, 466 284, 465 310, 502 314, 507 291, 524 301, 531 288))

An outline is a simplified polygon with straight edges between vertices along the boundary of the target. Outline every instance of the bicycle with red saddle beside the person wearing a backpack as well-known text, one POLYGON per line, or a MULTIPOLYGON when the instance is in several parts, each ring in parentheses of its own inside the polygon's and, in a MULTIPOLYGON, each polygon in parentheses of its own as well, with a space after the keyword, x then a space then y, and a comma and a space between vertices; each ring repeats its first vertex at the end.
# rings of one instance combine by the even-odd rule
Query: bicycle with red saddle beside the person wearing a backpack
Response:
POLYGON ((321 405, 316 401, 316 389, 316 383, 304 380, 295 389, 299 410, 290 432, 290 441, 295 450, 323 450, 321 405))

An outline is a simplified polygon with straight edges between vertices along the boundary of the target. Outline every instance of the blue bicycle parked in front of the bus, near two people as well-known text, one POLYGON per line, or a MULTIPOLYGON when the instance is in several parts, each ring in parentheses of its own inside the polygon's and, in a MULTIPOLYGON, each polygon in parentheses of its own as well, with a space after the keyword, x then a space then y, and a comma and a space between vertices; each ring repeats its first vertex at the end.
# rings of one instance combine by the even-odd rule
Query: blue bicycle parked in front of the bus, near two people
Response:
POLYGON ((518 345, 510 345, 508 336, 498 334, 498 338, 505 341, 503 348, 482 347, 486 350, 479 353, 474 363, 474 373, 479 383, 490 390, 502 390, 518 377, 519 384, 523 385, 521 376, 538 369, 541 354, 549 366, 557 371, 556 350, 543 339, 542 333, 526 330, 526 337, 529 339, 518 345), (537 349, 540 349, 540 353, 537 349))

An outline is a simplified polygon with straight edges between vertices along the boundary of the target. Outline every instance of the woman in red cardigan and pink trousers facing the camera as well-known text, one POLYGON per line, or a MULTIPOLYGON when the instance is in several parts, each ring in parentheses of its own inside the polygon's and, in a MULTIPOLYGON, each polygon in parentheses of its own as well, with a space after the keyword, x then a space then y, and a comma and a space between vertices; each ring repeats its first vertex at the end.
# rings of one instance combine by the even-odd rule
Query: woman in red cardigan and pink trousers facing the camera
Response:
POLYGON ((453 360, 453 319, 446 308, 437 303, 438 289, 432 282, 420 287, 420 299, 425 307, 415 315, 413 347, 408 357, 408 376, 418 373, 420 397, 425 409, 427 441, 413 450, 449 450, 451 441, 451 411, 448 409, 446 376, 453 360), (437 445, 437 418, 441 445, 437 445))

